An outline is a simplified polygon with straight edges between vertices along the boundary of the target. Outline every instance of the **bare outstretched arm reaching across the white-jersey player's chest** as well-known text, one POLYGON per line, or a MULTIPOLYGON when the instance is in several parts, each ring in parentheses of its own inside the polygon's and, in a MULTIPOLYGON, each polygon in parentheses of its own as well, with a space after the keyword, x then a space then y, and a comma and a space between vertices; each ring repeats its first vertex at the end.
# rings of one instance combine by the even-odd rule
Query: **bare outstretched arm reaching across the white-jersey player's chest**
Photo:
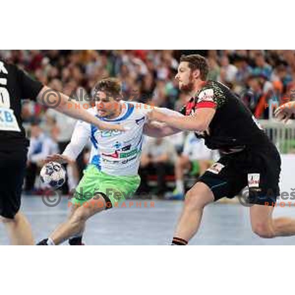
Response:
POLYGON ((58 112, 63 113, 69 117, 80 119, 90 124, 93 124, 101 130, 106 129, 124 131, 124 128, 121 125, 111 125, 100 121, 99 119, 91 115, 89 112, 87 112, 87 110, 81 108, 80 105, 71 101, 69 97, 65 94, 56 90, 49 89, 46 86, 44 86, 41 89, 37 96, 37 99, 41 104, 47 107, 53 107, 53 102, 55 100, 60 100, 56 107, 56 110, 58 112))

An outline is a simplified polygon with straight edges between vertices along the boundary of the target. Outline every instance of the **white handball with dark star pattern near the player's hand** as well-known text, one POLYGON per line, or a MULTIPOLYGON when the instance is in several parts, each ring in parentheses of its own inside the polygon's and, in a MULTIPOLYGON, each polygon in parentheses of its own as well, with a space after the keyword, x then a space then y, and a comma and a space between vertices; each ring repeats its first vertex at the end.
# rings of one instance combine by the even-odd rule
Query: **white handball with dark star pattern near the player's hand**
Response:
POLYGON ((49 162, 40 171, 42 183, 48 184, 52 188, 62 186, 65 181, 65 170, 58 162, 49 162))

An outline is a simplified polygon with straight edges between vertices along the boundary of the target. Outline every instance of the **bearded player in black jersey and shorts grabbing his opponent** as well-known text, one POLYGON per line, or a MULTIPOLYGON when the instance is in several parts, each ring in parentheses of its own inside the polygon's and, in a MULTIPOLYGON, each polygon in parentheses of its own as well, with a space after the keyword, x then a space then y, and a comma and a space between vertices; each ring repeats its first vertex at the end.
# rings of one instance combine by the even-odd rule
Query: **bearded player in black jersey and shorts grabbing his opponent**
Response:
POLYGON ((182 113, 166 116, 152 111, 151 120, 194 131, 221 158, 186 193, 173 245, 185 245, 197 233, 203 209, 223 197, 233 198, 249 188, 245 203, 250 207, 254 233, 264 238, 295 235, 295 219, 272 218, 279 196, 281 159, 259 122, 226 86, 206 81, 207 60, 199 55, 182 56, 176 79, 179 89, 191 95, 182 113))

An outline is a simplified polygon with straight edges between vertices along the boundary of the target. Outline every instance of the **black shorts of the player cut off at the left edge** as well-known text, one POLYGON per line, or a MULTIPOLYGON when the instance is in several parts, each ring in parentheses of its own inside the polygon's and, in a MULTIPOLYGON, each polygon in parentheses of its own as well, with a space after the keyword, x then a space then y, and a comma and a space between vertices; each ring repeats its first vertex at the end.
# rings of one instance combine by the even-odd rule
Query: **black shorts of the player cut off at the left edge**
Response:
POLYGON ((27 148, 0 151, 0 216, 13 218, 21 206, 27 148))

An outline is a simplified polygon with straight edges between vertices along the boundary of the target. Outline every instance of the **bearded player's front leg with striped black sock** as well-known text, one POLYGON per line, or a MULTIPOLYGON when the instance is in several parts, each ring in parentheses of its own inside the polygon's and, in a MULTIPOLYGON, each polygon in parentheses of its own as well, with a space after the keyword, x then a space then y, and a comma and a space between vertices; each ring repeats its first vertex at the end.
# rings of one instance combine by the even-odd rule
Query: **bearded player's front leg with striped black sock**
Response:
POLYGON ((173 238, 173 244, 185 244, 198 231, 204 207, 214 201, 207 184, 197 182, 185 195, 184 207, 173 238))

